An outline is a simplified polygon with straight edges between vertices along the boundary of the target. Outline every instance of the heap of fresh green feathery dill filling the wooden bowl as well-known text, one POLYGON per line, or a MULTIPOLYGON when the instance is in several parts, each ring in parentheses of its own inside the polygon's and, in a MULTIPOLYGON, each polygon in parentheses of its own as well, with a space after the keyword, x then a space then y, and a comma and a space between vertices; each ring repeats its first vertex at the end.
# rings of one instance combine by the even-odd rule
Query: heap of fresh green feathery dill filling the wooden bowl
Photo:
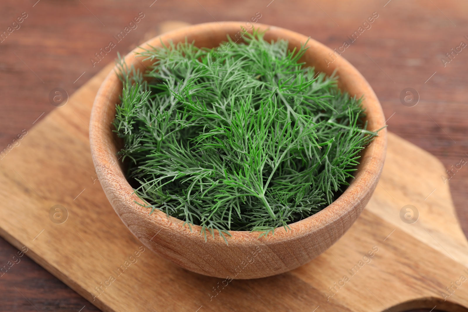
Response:
POLYGON ((127 178, 151 212, 201 225, 205 239, 267 234, 322 210, 377 135, 361 100, 299 63, 305 48, 258 32, 244 40, 146 50, 146 73, 120 63, 114 125, 127 178))

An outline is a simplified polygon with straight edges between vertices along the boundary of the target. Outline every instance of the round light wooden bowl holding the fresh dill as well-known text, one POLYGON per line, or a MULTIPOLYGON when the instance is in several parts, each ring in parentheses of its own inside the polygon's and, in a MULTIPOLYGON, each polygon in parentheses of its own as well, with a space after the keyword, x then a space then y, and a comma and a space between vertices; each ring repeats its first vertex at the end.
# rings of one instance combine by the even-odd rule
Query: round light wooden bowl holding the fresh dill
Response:
MULTIPOLYGON (((164 44, 170 40, 177 43, 187 38, 189 42, 195 40, 198 47, 212 48, 226 41, 227 35, 236 40, 243 24, 213 22, 189 26, 157 36, 142 47, 147 47, 146 44, 158 47, 161 41, 164 44)), ((308 39, 307 36, 274 26, 255 24, 255 27, 266 30, 264 38, 267 41, 287 39, 290 50, 300 47, 308 39)), ((358 98, 364 96, 368 129, 380 129, 385 123, 382 108, 364 77, 343 57, 335 56, 333 63, 326 61, 327 58, 332 60, 330 53, 333 55, 334 51, 323 44, 308 39, 307 46, 309 49, 303 61, 327 75, 336 70, 338 86, 342 90, 356 94, 358 98)), ((135 58, 135 52, 139 51, 141 49, 136 48, 129 53, 125 62, 144 71, 150 62, 135 58)), ((102 83, 91 113, 89 138, 99 181, 118 216, 143 244, 193 272, 228 279, 248 279, 280 274, 307 263, 327 250, 348 230, 369 201, 380 177, 387 146, 386 129, 381 130, 379 136, 361 153, 360 165, 351 185, 322 211, 292 223, 288 231, 278 228, 274 235, 268 237, 259 238, 259 232, 231 231, 232 236, 227 238, 228 245, 218 234, 214 238, 209 236, 205 242, 199 226, 192 225, 190 231, 183 221, 167 217, 159 210, 150 215, 149 209, 135 203, 141 200, 125 179, 121 162, 116 156, 121 146, 112 132, 115 106, 121 93, 122 83, 112 71, 102 83)))

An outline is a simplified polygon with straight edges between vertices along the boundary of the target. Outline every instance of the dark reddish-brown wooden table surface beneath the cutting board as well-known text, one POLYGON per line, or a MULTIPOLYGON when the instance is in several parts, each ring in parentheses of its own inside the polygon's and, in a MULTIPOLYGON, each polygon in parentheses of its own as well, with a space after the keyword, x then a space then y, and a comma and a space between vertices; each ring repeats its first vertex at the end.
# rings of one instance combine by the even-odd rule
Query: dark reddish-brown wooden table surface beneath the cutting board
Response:
MULTIPOLYGON (((389 118, 390 131, 436 155, 447 169, 458 165, 445 180, 450 177, 453 201, 463 230, 468 232, 468 209, 464 206, 468 199, 468 169, 460 165, 462 159, 468 160, 468 106, 464 103, 468 49, 461 45, 462 41, 468 44, 467 2, 36 1, 0 3, 0 32, 11 31, 13 27, 8 27, 17 18, 22 21, 14 24, 17 29, 0 43, 3 147, 54 109, 49 101, 53 88, 61 87, 71 95, 112 62, 117 51, 125 54, 156 35, 161 25, 167 25, 163 22, 248 21, 261 16, 259 22, 292 29, 338 50, 344 40, 351 42, 347 36, 359 31, 363 22, 377 12, 370 28, 366 24, 368 29, 359 33, 342 56, 372 85, 389 118), (95 53, 114 41, 113 36, 139 12, 145 17, 138 28, 96 63, 95 53), (451 58, 446 57, 447 53, 451 58), (93 57, 95 62, 90 60, 93 57), (416 106, 408 107, 412 104, 400 101, 406 88, 417 90, 416 106)), ((16 252, 0 239, 0 266, 16 252)), ((0 294, 0 311, 80 311, 84 306, 83 312, 98 311, 27 257, 1 276, 0 294)))

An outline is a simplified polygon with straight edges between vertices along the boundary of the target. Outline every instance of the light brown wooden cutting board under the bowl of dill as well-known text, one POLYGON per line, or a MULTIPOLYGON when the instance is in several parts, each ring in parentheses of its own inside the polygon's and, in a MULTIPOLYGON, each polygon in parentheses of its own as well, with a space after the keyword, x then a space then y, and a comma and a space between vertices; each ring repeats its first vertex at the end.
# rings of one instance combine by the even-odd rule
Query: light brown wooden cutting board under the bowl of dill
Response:
POLYGON ((230 281, 186 271, 142 247, 107 201, 89 151, 91 106, 110 69, 37 122, 0 161, 1 236, 91 303, 103 311, 405 311, 436 305, 468 311, 462 307, 468 307, 468 243, 441 178, 445 168, 392 133, 379 185, 358 221, 300 268, 230 281), (402 210, 406 205, 416 207, 412 215, 402 210))

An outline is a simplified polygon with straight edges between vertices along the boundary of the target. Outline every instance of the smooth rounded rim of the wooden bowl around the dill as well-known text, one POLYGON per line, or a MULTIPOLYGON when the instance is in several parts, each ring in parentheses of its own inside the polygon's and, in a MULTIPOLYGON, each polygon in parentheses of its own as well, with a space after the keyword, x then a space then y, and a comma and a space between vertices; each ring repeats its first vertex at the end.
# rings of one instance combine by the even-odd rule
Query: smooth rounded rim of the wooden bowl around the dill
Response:
MULTIPOLYGON (((201 31, 206 32, 206 36, 208 38, 207 40, 209 40, 210 36, 215 32, 222 33, 226 31, 226 35, 232 34, 233 29, 241 29, 242 24, 243 22, 211 22, 190 25, 181 29, 176 29, 174 31, 156 36, 146 41, 144 44, 139 45, 124 57, 124 62, 127 65, 135 66, 135 68, 142 68, 141 65, 146 67, 146 65, 142 62, 142 59, 139 59, 135 56, 135 53, 143 51, 144 48, 148 48, 149 46, 160 46, 161 42, 167 44, 168 41, 172 40, 173 38, 183 38, 184 36, 191 36, 191 34, 196 34, 201 31), (210 33, 210 31, 212 31, 212 33, 210 33)), ((366 118, 368 120, 369 129, 380 129, 384 126, 385 117, 383 115, 380 102, 369 83, 347 60, 345 60, 343 57, 338 57, 336 55, 336 50, 333 51, 325 45, 315 41, 314 39, 298 34, 291 30, 260 23, 256 23, 255 28, 259 30, 265 30, 266 38, 268 37, 267 34, 269 34, 269 32, 272 32, 271 36, 276 36, 278 34, 282 35, 281 37, 283 39, 287 39, 289 41, 290 48, 291 46, 297 46, 298 42, 303 44, 307 42, 306 46, 309 48, 308 51, 311 51, 311 49, 314 51, 311 53, 320 54, 322 56, 335 56, 336 58, 334 61, 331 64, 327 64, 331 66, 327 66, 327 68, 323 71, 326 73, 331 73, 331 71, 337 70, 338 74, 340 75, 338 78, 338 87, 340 87, 340 89, 344 88, 345 91, 348 92, 350 89, 351 91, 358 91, 349 92, 351 95, 357 95, 359 97, 359 95, 366 94, 362 105, 366 108, 366 118)), ((195 44, 197 45, 197 43, 195 44)), ((307 52, 304 57, 309 57, 307 52)), ((316 60, 317 56, 314 56, 313 59, 316 60)), ((327 60, 324 59, 324 62, 327 62, 327 60)), ((317 68, 318 65, 319 63, 316 62, 314 67, 317 68)), ((320 65, 319 68, 320 67, 324 67, 324 65, 320 65)), ((116 210, 117 214, 132 232, 134 232, 134 230, 132 230, 130 224, 128 224, 128 220, 123 218, 124 214, 136 213, 138 216, 137 219, 151 218, 151 223, 155 226, 155 228, 165 228, 169 231, 181 231, 179 235, 187 236, 189 239, 207 239, 218 244, 226 244, 224 239, 222 239, 220 235, 216 233, 216 230, 214 231, 213 236, 207 235, 207 237, 204 238, 200 233, 202 229, 201 226, 189 226, 188 224, 185 224, 183 220, 167 216, 165 212, 157 209, 155 209, 154 212, 149 215, 150 210, 148 208, 142 207, 135 203, 135 201, 141 202, 141 200, 136 194, 133 193, 132 187, 125 178, 121 162, 119 163, 119 160, 116 156, 117 147, 115 144, 115 133, 112 132, 112 126, 106 122, 106 120, 109 118, 105 118, 106 114, 111 116, 111 110, 114 111, 115 116, 116 92, 121 94, 122 87, 121 83, 119 85, 119 82, 117 82, 118 78, 115 70, 116 66, 114 66, 113 70, 102 82, 102 85, 96 94, 90 118, 89 139, 96 174, 98 175, 99 181, 101 182, 106 196, 116 210)), ((331 223, 334 223, 336 220, 341 218, 350 218, 352 221, 354 221, 360 214, 361 210, 364 208, 360 207, 360 209, 358 209, 359 211, 356 211, 356 208, 359 208, 360 206, 359 203, 362 201, 367 202, 372 195, 373 190, 375 189, 383 168, 386 146, 387 129, 384 128, 380 130, 379 136, 374 138, 372 144, 367 146, 361 152, 360 165, 358 166, 358 170, 355 171, 354 179, 352 179, 350 185, 345 189, 343 194, 336 198, 333 203, 325 207, 323 210, 300 221, 289 224, 289 229, 285 229, 284 227, 276 228, 274 235, 268 235, 267 240, 269 240, 269 243, 279 243, 306 236, 311 232, 319 231, 320 229, 331 223)), ((138 220, 135 220, 134 218, 133 220, 133 223, 138 223, 138 220)), ((231 244, 233 241, 237 241, 239 244, 250 245, 252 242, 258 242, 261 239, 266 239, 264 237, 259 238, 260 232, 257 231, 227 232, 229 232, 231 235, 230 237, 226 236, 229 244, 231 244)))

